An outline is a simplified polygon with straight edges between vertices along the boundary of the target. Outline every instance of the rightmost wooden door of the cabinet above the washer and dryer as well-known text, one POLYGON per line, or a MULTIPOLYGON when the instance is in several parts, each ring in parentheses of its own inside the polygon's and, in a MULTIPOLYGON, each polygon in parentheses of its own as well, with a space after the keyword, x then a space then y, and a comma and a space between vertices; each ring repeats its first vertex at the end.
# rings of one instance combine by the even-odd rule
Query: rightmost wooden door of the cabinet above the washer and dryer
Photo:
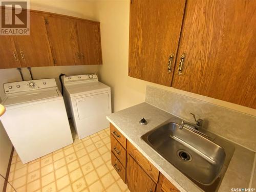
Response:
POLYGON ((76 20, 81 65, 101 65, 101 41, 99 23, 76 20))

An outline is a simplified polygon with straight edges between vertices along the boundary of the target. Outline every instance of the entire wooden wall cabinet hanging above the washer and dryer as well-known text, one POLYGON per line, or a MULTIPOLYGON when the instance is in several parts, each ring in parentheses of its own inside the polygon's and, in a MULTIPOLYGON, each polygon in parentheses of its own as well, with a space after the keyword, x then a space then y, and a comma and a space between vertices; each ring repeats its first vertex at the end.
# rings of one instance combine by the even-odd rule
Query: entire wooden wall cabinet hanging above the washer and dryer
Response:
POLYGON ((0 36, 0 69, 100 65, 99 24, 91 20, 30 10, 30 35, 0 36))

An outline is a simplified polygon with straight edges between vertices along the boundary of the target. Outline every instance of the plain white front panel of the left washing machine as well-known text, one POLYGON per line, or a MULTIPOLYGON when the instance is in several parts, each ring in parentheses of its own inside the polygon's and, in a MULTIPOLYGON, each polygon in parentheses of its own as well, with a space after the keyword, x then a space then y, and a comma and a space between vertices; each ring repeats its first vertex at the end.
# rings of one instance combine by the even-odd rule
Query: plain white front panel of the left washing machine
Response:
POLYGON ((8 110, 0 119, 23 163, 73 143, 62 99, 8 110))

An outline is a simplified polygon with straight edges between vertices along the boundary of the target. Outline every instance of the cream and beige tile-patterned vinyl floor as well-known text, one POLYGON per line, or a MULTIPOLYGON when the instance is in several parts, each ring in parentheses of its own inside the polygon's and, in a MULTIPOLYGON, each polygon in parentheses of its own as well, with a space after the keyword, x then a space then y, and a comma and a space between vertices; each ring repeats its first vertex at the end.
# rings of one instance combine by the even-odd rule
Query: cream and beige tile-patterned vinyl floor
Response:
POLYGON ((7 192, 129 192, 111 165, 110 130, 78 139, 44 157, 23 164, 14 151, 7 192))

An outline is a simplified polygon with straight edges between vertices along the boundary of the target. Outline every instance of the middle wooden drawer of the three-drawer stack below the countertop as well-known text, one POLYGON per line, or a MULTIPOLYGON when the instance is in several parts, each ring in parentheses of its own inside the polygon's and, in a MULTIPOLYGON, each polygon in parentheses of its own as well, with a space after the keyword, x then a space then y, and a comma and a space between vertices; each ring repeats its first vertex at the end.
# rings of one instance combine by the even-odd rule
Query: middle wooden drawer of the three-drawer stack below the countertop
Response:
POLYGON ((122 145, 115 139, 113 135, 110 136, 111 140, 111 151, 117 159, 122 163, 122 165, 125 167, 126 165, 126 150, 122 147, 122 145))

